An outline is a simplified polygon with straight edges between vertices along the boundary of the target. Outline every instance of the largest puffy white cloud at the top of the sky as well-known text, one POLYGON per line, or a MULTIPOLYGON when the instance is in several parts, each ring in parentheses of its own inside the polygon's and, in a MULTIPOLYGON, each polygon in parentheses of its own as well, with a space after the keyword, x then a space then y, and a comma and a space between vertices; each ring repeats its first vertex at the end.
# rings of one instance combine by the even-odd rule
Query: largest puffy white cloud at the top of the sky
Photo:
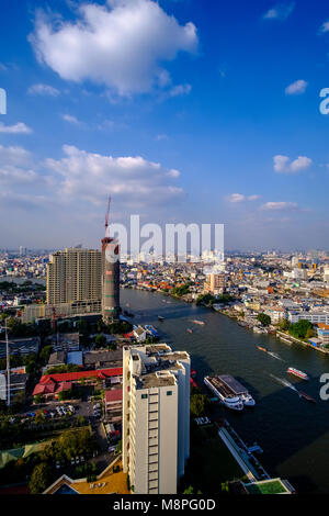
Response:
POLYGON ((90 80, 121 96, 168 87, 161 64, 197 47, 195 25, 180 25, 152 0, 83 3, 76 21, 56 19, 56 25, 38 12, 29 40, 38 60, 63 79, 90 80))

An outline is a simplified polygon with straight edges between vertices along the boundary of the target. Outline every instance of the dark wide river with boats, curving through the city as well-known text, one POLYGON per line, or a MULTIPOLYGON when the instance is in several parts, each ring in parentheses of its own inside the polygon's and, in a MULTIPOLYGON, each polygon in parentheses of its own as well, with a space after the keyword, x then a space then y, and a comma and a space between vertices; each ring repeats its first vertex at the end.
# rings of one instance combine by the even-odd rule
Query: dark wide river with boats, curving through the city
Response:
POLYGON ((329 401, 319 397, 319 377, 329 372, 329 356, 274 336, 257 335, 225 315, 160 293, 123 289, 122 306, 126 303, 136 314, 135 324, 154 324, 162 341, 191 355, 200 385, 205 374, 229 373, 250 390, 256 407, 245 407, 242 413, 226 410, 226 417, 246 444, 257 441, 262 447, 260 459, 270 474, 290 480, 299 493, 329 493, 329 401), (164 317, 162 323, 158 315, 164 317), (193 318, 205 325, 193 324, 193 318), (188 327, 192 334, 186 333, 188 327), (257 346, 274 351, 282 360, 257 346), (305 371, 309 381, 288 378, 288 367, 305 371), (299 399, 270 374, 287 379, 317 404, 299 399))

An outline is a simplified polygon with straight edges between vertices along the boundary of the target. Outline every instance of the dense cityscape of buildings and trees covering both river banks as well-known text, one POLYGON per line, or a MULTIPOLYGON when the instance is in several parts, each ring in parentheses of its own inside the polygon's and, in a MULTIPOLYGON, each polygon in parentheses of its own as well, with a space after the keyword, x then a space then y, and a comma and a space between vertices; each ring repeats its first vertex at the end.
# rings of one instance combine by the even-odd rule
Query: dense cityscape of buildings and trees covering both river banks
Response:
POLYGON ((138 323, 120 292, 156 291, 328 354, 329 256, 109 254, 120 254, 110 237, 101 250, 0 253, 0 492, 196 494, 191 458, 211 442, 225 457, 216 493, 294 493, 225 418, 230 403, 248 405, 241 385, 224 377, 209 379, 212 392, 198 385, 193 357, 161 340, 163 317, 159 327, 138 323))

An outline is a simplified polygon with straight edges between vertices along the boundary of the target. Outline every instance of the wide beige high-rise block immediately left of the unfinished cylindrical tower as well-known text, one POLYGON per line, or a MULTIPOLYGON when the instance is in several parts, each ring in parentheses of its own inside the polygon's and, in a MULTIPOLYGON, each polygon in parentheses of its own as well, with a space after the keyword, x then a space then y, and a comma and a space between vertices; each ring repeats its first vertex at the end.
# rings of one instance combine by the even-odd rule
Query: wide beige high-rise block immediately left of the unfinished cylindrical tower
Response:
POLYGON ((101 301, 102 255, 97 249, 58 250, 47 263, 47 304, 101 301))

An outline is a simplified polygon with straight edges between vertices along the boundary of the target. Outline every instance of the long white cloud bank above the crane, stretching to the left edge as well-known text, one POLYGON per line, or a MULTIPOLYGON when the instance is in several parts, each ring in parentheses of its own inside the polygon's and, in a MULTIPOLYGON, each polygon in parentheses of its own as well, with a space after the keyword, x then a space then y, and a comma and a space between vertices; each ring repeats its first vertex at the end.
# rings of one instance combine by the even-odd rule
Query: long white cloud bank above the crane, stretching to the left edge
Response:
MULTIPOLYGON (((136 156, 112 157, 64 145, 63 157, 37 161, 23 147, 0 145, 0 195, 12 205, 61 206, 69 212, 83 202, 101 205, 111 194, 120 211, 158 210, 178 202, 179 170, 136 156)), ((1 201, 2 203, 2 201, 1 201)), ((1 204, 0 203, 0 204, 1 204)))

